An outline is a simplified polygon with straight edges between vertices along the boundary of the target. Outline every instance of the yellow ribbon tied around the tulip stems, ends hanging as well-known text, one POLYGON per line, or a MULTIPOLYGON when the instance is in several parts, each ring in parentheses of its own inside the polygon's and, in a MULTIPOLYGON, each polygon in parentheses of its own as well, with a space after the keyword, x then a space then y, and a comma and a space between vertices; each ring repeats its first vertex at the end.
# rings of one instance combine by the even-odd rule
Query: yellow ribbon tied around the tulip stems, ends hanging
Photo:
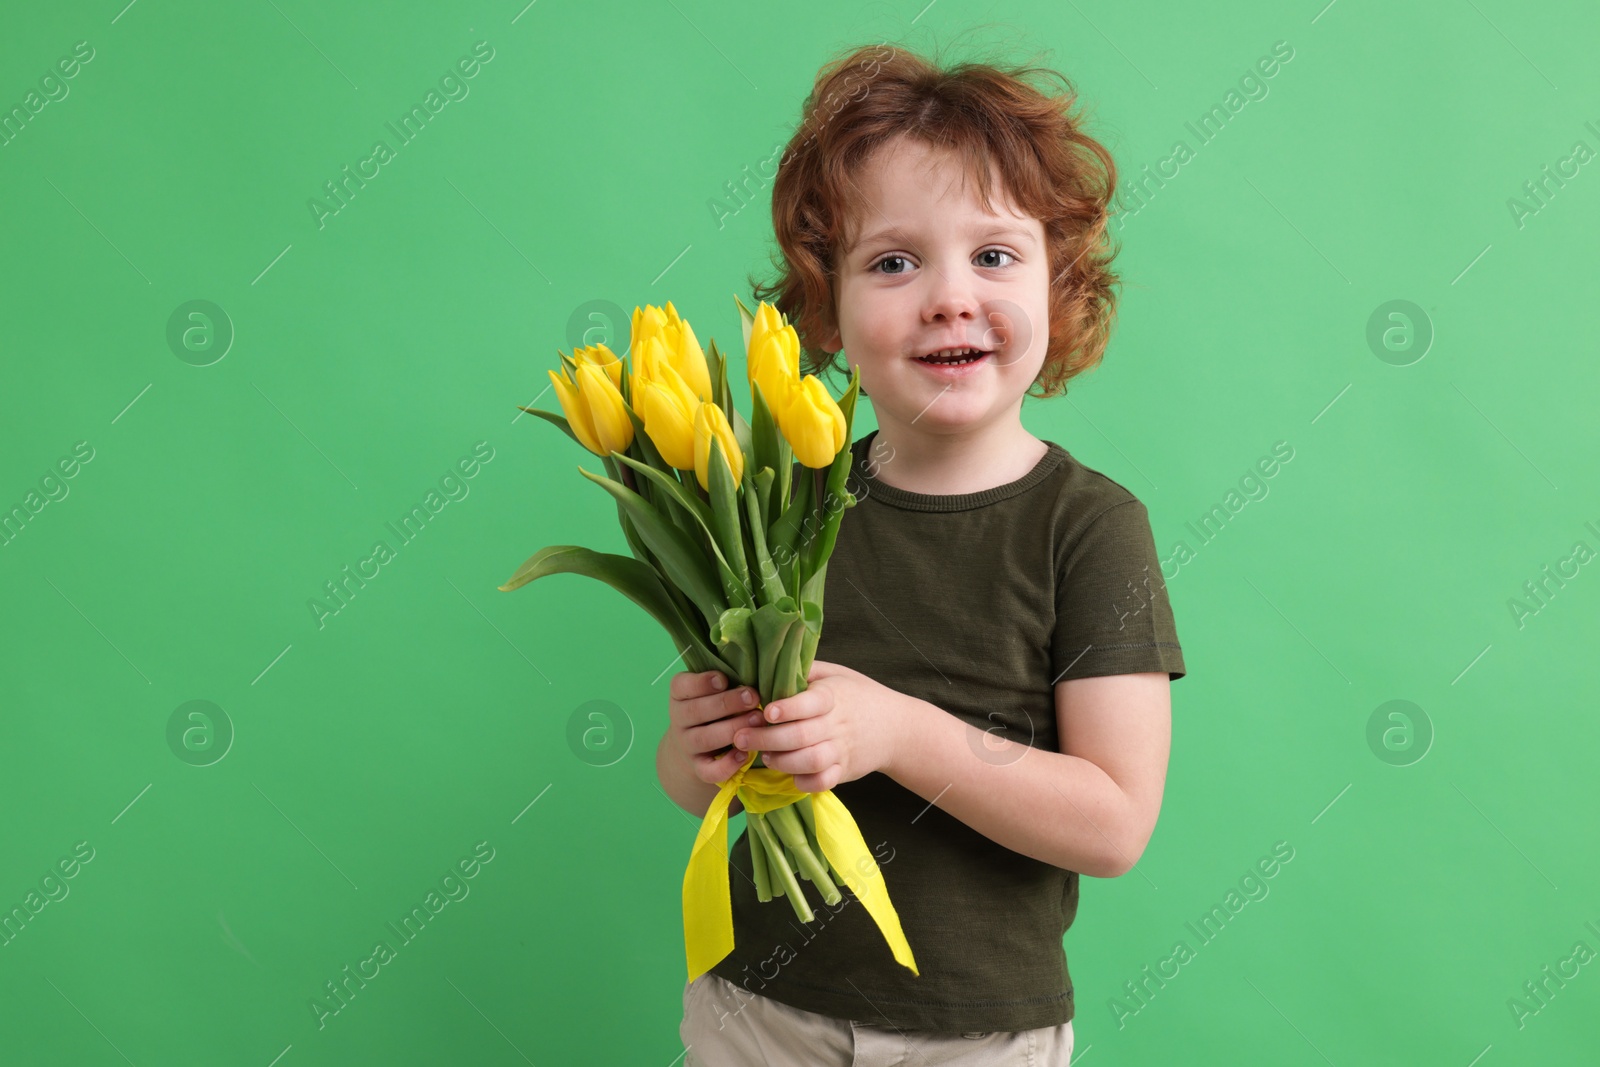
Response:
MULTIPOLYGON (((776 811, 806 797, 795 789, 795 779, 784 771, 752 766, 758 753, 752 752, 733 777, 722 784, 717 797, 706 809, 699 833, 694 835, 694 851, 690 867, 683 872, 683 942, 688 952, 690 981, 717 966, 733 952, 733 901, 728 896, 728 805, 734 793, 746 811, 776 811)), ((899 915, 890 904, 883 872, 867 851, 861 829, 845 803, 826 789, 811 793, 811 809, 816 814, 816 840, 822 857, 832 862, 850 891, 856 894, 872 921, 878 925, 883 939, 894 952, 894 960, 922 977, 917 960, 910 953, 899 915)), ((776 905, 776 897, 771 904, 776 905)))

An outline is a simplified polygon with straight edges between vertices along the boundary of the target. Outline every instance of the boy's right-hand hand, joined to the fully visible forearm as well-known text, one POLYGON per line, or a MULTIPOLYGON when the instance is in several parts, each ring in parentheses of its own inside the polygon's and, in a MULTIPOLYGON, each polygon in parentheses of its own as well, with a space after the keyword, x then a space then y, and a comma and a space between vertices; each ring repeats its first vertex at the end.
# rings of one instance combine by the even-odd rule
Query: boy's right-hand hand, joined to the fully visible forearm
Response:
POLYGON ((906 694, 859 670, 813 661, 806 689, 766 705, 760 726, 739 726, 733 744, 821 793, 888 766, 899 745, 906 694), (774 718, 776 710, 776 718, 774 718))

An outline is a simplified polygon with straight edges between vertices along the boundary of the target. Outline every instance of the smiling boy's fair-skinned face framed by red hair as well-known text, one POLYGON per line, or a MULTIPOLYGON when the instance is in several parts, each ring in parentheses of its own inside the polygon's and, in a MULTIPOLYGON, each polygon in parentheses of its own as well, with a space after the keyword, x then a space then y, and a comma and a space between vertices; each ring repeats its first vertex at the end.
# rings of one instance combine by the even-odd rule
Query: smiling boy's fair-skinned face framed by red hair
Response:
POLYGON ((854 176, 867 206, 848 227, 822 347, 861 365, 878 424, 907 435, 963 435, 1014 419, 1050 341, 1045 227, 1016 213, 998 171, 984 211, 958 158, 894 138, 854 176), (938 370, 939 349, 987 352, 938 370))

